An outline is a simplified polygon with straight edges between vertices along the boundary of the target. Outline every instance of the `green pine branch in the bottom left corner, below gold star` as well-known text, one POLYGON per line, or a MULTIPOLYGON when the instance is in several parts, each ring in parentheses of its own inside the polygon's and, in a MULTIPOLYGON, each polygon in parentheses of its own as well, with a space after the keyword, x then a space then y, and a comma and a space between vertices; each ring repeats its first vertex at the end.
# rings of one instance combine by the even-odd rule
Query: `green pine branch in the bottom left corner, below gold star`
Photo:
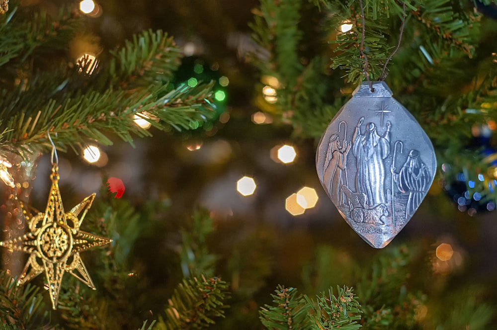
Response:
POLYGON ((0 271, 0 326, 23 330, 53 327, 49 327, 50 312, 39 290, 31 284, 17 286, 14 278, 0 271))

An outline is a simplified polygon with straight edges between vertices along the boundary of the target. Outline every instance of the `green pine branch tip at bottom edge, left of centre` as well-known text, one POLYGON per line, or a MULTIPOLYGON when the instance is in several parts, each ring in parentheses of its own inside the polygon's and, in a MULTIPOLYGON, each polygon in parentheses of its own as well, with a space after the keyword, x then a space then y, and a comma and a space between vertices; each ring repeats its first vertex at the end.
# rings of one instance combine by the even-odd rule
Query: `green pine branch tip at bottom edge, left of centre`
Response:
POLYGON ((220 278, 184 279, 169 299, 166 318, 160 318, 157 329, 204 329, 215 324, 215 318, 224 317, 228 298, 228 284, 220 278))

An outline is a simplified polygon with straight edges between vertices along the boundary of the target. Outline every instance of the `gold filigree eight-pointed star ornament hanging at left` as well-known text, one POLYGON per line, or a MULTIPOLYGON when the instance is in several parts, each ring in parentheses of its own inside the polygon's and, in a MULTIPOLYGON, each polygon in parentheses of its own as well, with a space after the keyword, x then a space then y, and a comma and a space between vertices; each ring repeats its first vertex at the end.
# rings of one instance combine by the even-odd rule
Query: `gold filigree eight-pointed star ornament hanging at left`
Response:
POLYGON ((55 310, 65 272, 69 272, 96 290, 80 257, 80 252, 109 244, 112 240, 80 230, 81 223, 91 207, 95 194, 84 198, 71 211, 65 212, 59 190, 57 164, 53 165, 50 178, 52 187, 45 213, 40 212, 27 218, 29 233, 0 242, 0 246, 8 248, 10 251, 29 253, 17 285, 22 285, 44 272, 52 308, 55 310))

